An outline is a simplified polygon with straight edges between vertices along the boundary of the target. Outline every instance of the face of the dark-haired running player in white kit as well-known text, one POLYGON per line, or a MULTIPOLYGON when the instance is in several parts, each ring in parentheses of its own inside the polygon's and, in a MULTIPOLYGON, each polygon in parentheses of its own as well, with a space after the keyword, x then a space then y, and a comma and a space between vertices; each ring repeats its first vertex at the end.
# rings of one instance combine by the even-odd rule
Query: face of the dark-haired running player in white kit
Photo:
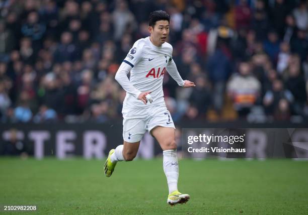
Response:
POLYGON ((148 30, 151 34, 152 43, 156 46, 161 46, 169 36, 169 22, 167 20, 157 21, 154 28, 150 26, 148 30))

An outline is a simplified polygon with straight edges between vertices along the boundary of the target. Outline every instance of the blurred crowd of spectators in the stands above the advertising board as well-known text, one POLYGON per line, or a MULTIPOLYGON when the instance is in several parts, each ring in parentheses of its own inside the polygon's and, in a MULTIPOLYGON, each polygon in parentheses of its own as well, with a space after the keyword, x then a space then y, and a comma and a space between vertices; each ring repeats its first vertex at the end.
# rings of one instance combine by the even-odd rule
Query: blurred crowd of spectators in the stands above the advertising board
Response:
POLYGON ((1 122, 121 119, 115 73, 148 15, 171 15, 183 89, 165 73, 174 121, 304 122, 308 1, 0 0, 1 122))

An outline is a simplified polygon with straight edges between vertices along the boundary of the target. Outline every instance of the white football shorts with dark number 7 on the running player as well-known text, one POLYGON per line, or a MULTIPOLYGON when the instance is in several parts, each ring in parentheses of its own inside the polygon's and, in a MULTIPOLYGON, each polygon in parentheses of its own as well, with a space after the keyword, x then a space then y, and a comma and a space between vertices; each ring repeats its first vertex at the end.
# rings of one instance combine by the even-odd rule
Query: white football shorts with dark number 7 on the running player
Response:
POLYGON ((174 123, 166 105, 145 109, 125 108, 123 114, 123 140, 135 143, 142 139, 146 131, 157 126, 174 128, 174 123))

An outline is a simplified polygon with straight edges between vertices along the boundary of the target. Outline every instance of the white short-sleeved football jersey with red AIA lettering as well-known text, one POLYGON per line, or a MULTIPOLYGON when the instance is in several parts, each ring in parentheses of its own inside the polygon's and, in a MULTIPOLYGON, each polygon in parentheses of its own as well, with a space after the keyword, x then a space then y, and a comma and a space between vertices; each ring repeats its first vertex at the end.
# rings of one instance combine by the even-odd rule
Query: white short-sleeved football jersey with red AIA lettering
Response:
POLYGON ((123 108, 147 108, 165 104, 163 78, 167 72, 167 65, 172 60, 172 50, 172 46, 167 42, 161 47, 153 45, 149 37, 134 43, 123 62, 132 67, 130 83, 140 92, 151 91, 153 102, 145 105, 134 95, 126 92, 123 108))

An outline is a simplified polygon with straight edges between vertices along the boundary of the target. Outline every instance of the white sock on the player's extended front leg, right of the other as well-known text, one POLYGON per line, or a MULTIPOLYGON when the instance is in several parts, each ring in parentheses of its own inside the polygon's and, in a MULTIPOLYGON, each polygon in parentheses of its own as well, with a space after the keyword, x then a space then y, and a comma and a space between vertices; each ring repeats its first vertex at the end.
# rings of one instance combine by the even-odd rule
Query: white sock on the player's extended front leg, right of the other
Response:
POLYGON ((163 151, 163 167, 167 177, 169 194, 178 190, 179 163, 176 149, 163 151))

